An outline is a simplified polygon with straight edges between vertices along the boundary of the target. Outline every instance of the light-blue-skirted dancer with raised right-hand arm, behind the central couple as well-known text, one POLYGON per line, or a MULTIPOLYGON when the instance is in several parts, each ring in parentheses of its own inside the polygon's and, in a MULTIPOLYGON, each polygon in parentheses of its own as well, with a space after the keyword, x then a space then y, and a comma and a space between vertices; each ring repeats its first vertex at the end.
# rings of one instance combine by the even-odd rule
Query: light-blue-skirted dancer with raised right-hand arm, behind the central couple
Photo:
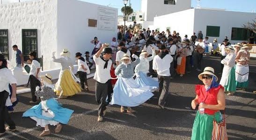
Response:
POLYGON ((151 50, 153 52, 151 57, 147 57, 148 53, 146 52, 146 50, 142 50, 140 55, 139 55, 139 64, 135 67, 135 75, 136 75, 136 79, 135 81, 137 82, 137 84, 139 84, 140 86, 144 87, 144 86, 150 86, 151 89, 156 90, 159 85, 158 85, 158 81, 154 80, 151 77, 147 77, 146 73, 148 73, 149 71, 149 61, 152 61, 154 59, 155 56, 155 49, 154 47, 151 47, 151 50))

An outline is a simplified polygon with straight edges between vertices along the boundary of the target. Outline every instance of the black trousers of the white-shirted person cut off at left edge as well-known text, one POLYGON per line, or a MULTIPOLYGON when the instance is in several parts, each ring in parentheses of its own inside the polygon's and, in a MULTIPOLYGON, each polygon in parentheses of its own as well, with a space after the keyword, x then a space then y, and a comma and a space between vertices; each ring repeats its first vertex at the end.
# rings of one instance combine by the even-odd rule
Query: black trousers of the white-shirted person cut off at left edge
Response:
POLYGON ((5 122, 10 127, 10 129, 15 129, 15 123, 11 119, 10 114, 8 113, 6 104, 6 99, 8 98, 9 93, 7 91, 0 92, 0 133, 5 132, 5 122))

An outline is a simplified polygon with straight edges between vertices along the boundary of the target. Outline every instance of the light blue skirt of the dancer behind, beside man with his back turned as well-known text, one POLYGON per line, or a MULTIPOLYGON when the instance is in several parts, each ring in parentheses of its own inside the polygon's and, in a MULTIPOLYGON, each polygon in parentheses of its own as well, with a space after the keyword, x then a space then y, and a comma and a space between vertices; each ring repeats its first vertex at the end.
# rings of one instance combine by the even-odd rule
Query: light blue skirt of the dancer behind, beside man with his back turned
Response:
POLYGON ((139 76, 140 78, 135 79, 135 81, 137 82, 137 84, 139 84, 139 86, 141 87, 149 86, 153 90, 159 88, 159 84, 157 80, 154 80, 151 77, 147 77, 146 74, 143 72, 139 72, 139 76))

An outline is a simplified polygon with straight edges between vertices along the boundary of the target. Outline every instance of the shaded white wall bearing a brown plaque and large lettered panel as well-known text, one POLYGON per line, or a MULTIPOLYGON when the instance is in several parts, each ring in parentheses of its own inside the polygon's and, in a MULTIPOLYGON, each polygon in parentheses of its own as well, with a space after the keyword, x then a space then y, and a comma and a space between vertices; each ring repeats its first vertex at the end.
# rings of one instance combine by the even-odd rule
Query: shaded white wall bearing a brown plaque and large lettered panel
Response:
MULTIPOLYGON (((71 59, 75 64, 75 53, 90 54, 94 45, 90 43, 96 36, 102 43, 110 43, 117 37, 117 9, 105 7, 116 11, 116 28, 114 31, 98 30, 98 27, 88 27, 88 19, 98 20, 98 7, 104 7, 79 0, 58 0, 58 49, 68 48, 71 59)), ((99 20, 97 23, 99 26, 99 20)))

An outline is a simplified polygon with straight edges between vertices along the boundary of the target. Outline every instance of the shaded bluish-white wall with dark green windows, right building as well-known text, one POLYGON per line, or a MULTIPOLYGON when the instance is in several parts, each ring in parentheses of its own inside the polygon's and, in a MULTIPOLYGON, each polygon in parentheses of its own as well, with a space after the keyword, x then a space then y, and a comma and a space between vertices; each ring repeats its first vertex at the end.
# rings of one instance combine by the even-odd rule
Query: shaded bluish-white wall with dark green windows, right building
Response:
POLYGON ((243 40, 231 40, 232 27, 242 27, 244 23, 256 18, 256 13, 243 13, 223 10, 195 9, 194 32, 196 35, 201 30, 204 38, 206 26, 219 26, 219 37, 209 37, 212 42, 214 38, 221 43, 225 36, 234 44, 243 40))

